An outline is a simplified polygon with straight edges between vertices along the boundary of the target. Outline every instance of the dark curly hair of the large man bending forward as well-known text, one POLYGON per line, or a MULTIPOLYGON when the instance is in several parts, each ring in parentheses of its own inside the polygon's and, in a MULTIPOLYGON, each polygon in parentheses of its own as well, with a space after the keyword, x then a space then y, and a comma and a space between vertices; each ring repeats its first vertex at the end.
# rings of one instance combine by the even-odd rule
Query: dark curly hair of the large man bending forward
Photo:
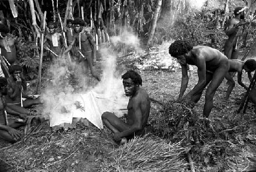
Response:
POLYGON ((190 50, 193 49, 193 46, 188 41, 177 40, 174 41, 169 46, 169 54, 173 57, 177 57, 179 55, 184 55, 190 50))

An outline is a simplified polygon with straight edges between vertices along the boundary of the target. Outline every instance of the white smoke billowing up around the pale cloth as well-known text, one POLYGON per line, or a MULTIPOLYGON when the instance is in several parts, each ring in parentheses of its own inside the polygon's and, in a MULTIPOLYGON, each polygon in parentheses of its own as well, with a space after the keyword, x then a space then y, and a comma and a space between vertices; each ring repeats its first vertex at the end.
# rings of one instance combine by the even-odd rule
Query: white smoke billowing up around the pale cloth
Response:
MULTIPOLYGON (((77 78, 76 85, 70 82, 71 73, 67 69, 65 58, 59 58, 54 61, 49 69, 48 75, 52 80, 46 85, 41 97, 44 100, 43 115, 49 115, 51 119, 56 121, 56 125, 62 122, 68 122, 72 118, 72 113, 76 111, 75 103, 81 100, 81 94, 94 91, 104 99, 110 100, 107 106, 112 111, 117 111, 118 107, 123 106, 123 101, 127 101, 129 97, 125 97, 121 75, 125 72, 125 68, 116 66, 116 51, 120 45, 129 47, 140 52, 140 40, 137 36, 130 32, 123 32, 119 36, 111 37, 111 46, 102 47, 99 52, 101 54, 101 81, 89 88, 83 87, 84 75, 81 73, 81 64, 75 64, 76 70, 73 78, 77 78), (77 89, 82 88, 82 89, 77 89)), ((85 105, 86 106, 86 105, 85 105)), ((127 105, 126 105, 127 106, 127 105)))

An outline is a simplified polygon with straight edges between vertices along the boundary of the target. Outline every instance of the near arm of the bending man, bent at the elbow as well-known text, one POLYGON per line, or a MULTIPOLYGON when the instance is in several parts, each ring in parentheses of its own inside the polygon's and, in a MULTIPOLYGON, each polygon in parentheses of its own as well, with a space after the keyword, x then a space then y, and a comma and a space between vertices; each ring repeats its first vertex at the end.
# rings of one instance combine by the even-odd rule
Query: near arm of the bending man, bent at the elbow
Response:
POLYGON ((205 60, 202 57, 198 57, 197 59, 197 74, 198 74, 198 83, 195 85, 195 87, 187 93, 186 97, 190 99, 192 95, 194 95, 196 92, 200 91, 204 88, 204 85, 206 83, 206 64, 205 60))

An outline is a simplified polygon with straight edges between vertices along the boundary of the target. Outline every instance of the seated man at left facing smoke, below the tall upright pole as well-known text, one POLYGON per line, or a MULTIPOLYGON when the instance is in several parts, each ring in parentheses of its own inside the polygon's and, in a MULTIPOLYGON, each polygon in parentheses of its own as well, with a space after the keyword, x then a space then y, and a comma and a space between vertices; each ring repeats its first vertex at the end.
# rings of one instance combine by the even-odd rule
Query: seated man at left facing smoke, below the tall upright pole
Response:
POLYGON ((24 108, 28 108, 32 105, 40 104, 41 103, 40 99, 38 98, 35 99, 34 96, 28 96, 22 92, 22 85, 21 85, 22 80, 20 78, 22 74, 22 67, 17 64, 11 65, 11 67, 9 68, 9 72, 11 77, 7 79, 7 82, 8 82, 7 91, 6 91, 7 107, 15 111, 18 111, 18 109, 22 110, 23 108, 20 109, 22 97, 27 99, 23 101, 24 108))

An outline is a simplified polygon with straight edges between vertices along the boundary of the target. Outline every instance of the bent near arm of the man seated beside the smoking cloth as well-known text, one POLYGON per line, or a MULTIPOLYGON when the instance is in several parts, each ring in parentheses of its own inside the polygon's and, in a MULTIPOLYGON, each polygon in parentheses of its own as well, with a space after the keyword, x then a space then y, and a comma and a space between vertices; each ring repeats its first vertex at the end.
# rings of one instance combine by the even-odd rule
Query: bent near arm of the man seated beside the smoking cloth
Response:
POLYGON ((142 121, 141 121, 142 114, 140 109, 140 100, 137 97, 134 98, 132 102, 132 107, 134 111, 134 114, 133 114, 134 124, 128 130, 118 133, 118 136, 120 138, 132 135, 134 132, 142 129, 142 121))

